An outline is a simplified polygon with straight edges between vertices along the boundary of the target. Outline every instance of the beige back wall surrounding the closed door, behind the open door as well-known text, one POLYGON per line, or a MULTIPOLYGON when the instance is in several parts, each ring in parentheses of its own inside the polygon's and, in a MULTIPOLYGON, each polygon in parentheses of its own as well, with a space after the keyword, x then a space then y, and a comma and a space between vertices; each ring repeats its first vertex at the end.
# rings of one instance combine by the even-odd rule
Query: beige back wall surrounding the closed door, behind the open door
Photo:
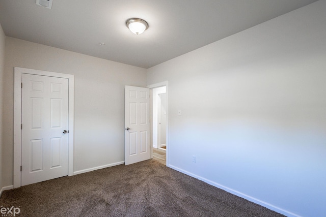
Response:
POLYGON ((146 86, 146 70, 7 37, 4 186, 13 184, 14 67, 74 75, 75 172, 124 161, 124 86, 146 86))

